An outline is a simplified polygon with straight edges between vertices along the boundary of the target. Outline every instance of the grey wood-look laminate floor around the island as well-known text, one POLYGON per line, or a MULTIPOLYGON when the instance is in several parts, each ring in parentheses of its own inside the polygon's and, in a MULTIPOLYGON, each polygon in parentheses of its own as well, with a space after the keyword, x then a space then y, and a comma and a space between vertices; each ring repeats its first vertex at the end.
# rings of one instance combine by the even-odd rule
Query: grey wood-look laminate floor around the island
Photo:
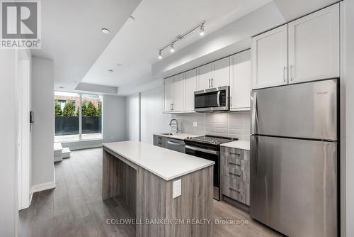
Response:
MULTIPOLYGON (((131 216, 119 199, 102 201, 101 148, 76 150, 55 163, 55 183, 55 189, 33 194, 30 207, 19 212, 19 236, 135 236, 134 225, 107 224, 131 216)), ((280 236, 225 202, 214 201, 212 221, 213 236, 280 236)))

